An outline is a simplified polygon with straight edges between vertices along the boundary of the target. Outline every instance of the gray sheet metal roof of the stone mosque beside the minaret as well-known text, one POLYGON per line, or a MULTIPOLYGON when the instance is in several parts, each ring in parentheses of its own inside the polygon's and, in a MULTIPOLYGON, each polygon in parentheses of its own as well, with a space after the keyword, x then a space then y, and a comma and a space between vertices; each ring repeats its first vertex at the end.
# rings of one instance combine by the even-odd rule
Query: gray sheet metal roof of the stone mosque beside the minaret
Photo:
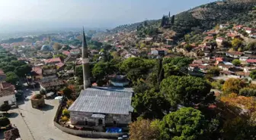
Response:
POLYGON ((98 114, 129 114, 133 92, 126 88, 88 88, 69 107, 69 111, 91 112, 98 114))

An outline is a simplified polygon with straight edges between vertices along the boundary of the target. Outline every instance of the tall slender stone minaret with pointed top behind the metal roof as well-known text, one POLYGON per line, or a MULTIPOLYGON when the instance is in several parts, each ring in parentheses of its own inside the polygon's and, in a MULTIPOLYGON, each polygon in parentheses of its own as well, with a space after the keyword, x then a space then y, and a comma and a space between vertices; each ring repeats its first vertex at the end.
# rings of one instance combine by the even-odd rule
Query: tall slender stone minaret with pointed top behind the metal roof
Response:
POLYGON ((88 48, 85 39, 85 30, 83 28, 83 39, 82 39, 82 67, 83 67, 83 78, 84 78, 84 90, 91 86, 90 82, 90 65, 88 48))

